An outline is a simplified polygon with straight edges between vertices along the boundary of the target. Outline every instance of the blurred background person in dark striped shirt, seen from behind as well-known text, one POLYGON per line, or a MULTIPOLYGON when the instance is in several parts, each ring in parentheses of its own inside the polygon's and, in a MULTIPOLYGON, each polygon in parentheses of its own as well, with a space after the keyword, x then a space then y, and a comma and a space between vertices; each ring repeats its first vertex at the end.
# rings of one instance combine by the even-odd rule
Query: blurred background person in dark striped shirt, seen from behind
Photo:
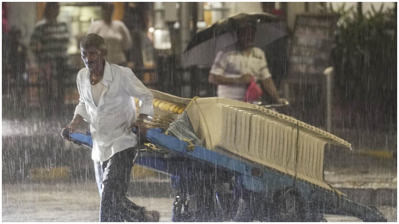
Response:
POLYGON ((64 98, 64 79, 67 74, 69 31, 65 22, 59 22, 58 2, 47 2, 40 20, 32 33, 30 47, 36 63, 43 72, 45 87, 44 109, 47 114, 60 112, 64 98))

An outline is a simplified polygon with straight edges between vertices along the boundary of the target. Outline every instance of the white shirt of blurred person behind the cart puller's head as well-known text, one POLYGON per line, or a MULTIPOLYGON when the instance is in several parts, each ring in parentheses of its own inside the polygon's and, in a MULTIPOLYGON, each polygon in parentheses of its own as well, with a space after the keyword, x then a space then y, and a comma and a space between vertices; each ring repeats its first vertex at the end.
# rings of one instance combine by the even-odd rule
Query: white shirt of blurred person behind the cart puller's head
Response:
POLYGON ((111 24, 107 24, 104 20, 97 20, 87 29, 87 34, 89 33, 95 33, 104 38, 109 63, 123 65, 126 62, 124 51, 132 47, 132 36, 122 21, 113 20, 111 24))

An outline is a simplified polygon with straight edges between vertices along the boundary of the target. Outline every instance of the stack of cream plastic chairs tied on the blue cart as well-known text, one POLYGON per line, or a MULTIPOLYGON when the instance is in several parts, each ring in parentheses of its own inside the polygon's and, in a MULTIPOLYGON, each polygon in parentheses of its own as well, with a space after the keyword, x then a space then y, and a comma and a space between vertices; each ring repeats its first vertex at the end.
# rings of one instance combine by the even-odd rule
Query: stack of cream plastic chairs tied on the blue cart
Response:
MULTIPOLYGON (((191 100, 151 91, 154 102, 164 100, 186 108, 203 147, 221 148, 326 189, 331 188, 323 180, 324 146, 351 147, 328 132, 255 104, 218 97, 191 100)), ((155 106, 154 110, 173 120, 179 114, 155 106)))

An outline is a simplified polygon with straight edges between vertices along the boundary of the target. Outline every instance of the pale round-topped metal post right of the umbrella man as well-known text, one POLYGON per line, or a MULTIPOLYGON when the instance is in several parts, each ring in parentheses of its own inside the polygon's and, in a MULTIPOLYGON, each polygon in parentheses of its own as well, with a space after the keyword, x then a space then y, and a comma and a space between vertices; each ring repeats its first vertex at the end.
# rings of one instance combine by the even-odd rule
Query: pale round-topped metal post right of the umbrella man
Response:
POLYGON ((324 70, 326 78, 326 131, 332 132, 332 76, 334 74, 334 67, 328 67, 324 70))

